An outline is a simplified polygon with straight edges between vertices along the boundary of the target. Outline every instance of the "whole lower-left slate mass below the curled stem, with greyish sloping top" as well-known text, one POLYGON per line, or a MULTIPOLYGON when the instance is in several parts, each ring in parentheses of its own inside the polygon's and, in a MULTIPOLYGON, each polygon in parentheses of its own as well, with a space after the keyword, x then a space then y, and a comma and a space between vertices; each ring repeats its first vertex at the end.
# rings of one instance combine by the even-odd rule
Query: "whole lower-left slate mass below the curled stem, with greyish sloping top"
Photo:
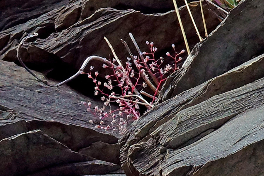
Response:
POLYGON ((41 85, 14 63, 0 61, 0 67, 0 157, 6 161, 0 166, 2 175, 123 174, 119 150, 111 147, 120 136, 88 123, 93 118, 99 123, 79 104, 89 98, 66 85, 41 85), (98 142, 104 144, 103 155, 78 153, 98 142), (106 162, 110 157, 115 163, 106 162))

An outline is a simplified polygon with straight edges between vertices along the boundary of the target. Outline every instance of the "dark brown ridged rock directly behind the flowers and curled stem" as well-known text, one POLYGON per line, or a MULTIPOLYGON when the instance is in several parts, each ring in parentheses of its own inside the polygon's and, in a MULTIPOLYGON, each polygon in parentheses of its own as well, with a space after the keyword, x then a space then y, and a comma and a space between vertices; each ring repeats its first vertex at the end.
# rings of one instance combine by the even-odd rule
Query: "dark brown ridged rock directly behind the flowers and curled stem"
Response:
MULTIPOLYGON (((63 2, 65 3, 65 1, 63 2)), ((128 53, 120 42, 120 38, 126 40, 133 54, 137 55, 128 36, 129 32, 134 34, 142 50, 147 50, 145 46, 146 40, 153 41, 155 46, 158 47, 158 51, 160 51, 157 55, 165 55, 168 50, 171 50, 170 45, 172 43, 176 44, 177 51, 181 51, 185 48, 174 11, 145 15, 132 9, 116 10, 101 8, 97 10, 97 7, 94 7, 94 1, 90 0, 85 2, 86 4, 84 7, 84 4, 82 4, 84 1, 75 0, 71 1, 71 3, 66 6, 56 8, 49 6, 48 3, 47 6, 50 8, 50 11, 46 13, 43 11, 43 14, 37 16, 37 18, 32 18, 17 26, 1 31, 0 46, 2 47, 0 47, 0 59, 18 63, 16 60, 18 42, 28 35, 28 33, 33 32, 38 32, 39 36, 36 39, 32 39, 36 41, 22 48, 21 57, 29 68, 41 71, 45 73, 45 75, 55 79, 65 79, 65 77, 71 76, 72 72, 79 69, 85 58, 90 55, 108 57, 111 51, 103 40, 104 36, 106 36, 114 48, 118 50, 117 54, 121 60, 125 60, 128 53), (89 3, 91 4, 89 5, 89 3), (82 5, 82 10, 80 10, 80 5, 82 5), (89 7, 88 9, 94 7, 94 10, 97 11, 91 16, 83 15, 84 9, 87 9, 85 7, 89 7), (78 18, 80 15, 85 17, 78 18), (174 28, 174 30, 171 30, 172 28, 174 28), (147 38, 146 35, 150 36, 150 38, 147 38), (94 36, 96 36, 96 39, 94 36), (67 72, 65 70, 67 70, 67 72)), ((140 3, 151 6, 148 1, 133 1, 131 6, 140 7, 140 3)), ((172 2, 170 1, 170 3, 172 2)), ((116 7, 119 6, 120 3, 119 1, 115 1, 113 4, 114 5, 109 6, 116 7)), ((169 6, 169 4, 164 2, 161 4, 169 6)), ((100 3, 97 3, 97 5, 98 8, 106 7, 104 4, 100 5, 100 3)), ((155 4, 155 8, 156 7, 158 6, 155 4)), ((160 6, 160 8, 162 9, 163 7, 160 6)), ((173 6, 171 8, 173 8, 173 6)), ((190 8, 202 35, 204 33, 202 18, 197 2, 194 2, 190 8)), ((208 31, 210 32, 216 28, 219 21, 215 16, 212 16, 207 9, 208 6, 204 4, 204 13, 208 23, 208 31)), ((36 13, 38 10, 36 10, 36 13)), ((35 11, 32 13, 34 12, 35 11)), ((189 45, 193 47, 199 39, 195 34, 194 28, 189 25, 191 19, 189 18, 186 8, 180 8, 180 14, 184 22, 185 32, 189 39, 189 45)), ((185 56, 183 56, 183 58, 185 58, 185 56)), ((92 62, 91 65, 97 66, 98 64, 92 62)), ((104 72, 101 65, 98 65, 97 70, 100 73, 104 72)), ((102 77, 104 77, 104 75, 102 75, 102 77)), ((79 86, 76 87, 82 87, 80 83, 78 85, 79 86)))

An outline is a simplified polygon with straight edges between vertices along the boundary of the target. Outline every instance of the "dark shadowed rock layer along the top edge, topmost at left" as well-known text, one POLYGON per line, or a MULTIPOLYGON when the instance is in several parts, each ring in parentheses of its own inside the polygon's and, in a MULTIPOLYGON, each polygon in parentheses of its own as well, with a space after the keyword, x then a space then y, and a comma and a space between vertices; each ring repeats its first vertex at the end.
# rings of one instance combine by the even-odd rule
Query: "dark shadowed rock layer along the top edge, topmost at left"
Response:
MULTIPOLYGON (((188 0, 191 2, 192 0, 188 0)), ((25 23, 31 19, 38 18, 39 16, 48 13, 54 9, 64 7, 67 11, 67 6, 78 3, 82 6, 82 18, 87 18, 94 13, 94 11, 104 7, 112 7, 119 10, 135 9, 136 11, 143 11, 144 13, 165 13, 173 10, 174 6, 172 1, 157 2, 153 0, 146 1, 96 1, 96 0, 83 0, 83 1, 69 1, 69 0, 51 0, 51 1, 15 1, 15 0, 2 0, 1 2, 1 22, 0 31, 4 31, 13 26, 25 23), (155 3, 154 3, 155 2, 155 3), (65 7, 66 6, 66 7, 65 7), (23 9, 23 10, 22 10, 23 9)), ((184 5, 184 1, 177 1, 178 6, 184 5)), ((65 9, 62 9, 65 12, 65 9)), ((70 10, 69 10, 70 11, 70 10)), ((65 13, 61 13, 62 15, 65 13)), ((81 13, 79 13, 81 14, 81 13)), ((65 14, 67 16, 67 14, 65 14)), ((74 18, 73 18, 74 19, 74 18)))

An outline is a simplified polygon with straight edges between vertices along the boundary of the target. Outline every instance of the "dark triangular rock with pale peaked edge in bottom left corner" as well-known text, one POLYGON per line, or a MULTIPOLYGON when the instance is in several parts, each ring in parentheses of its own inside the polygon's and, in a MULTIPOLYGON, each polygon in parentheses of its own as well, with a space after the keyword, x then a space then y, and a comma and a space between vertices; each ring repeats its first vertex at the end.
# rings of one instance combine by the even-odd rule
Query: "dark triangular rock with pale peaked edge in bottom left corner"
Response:
POLYGON ((41 130, 2 139, 0 148, 0 172, 3 176, 25 175, 52 165, 94 160, 73 152, 41 130))

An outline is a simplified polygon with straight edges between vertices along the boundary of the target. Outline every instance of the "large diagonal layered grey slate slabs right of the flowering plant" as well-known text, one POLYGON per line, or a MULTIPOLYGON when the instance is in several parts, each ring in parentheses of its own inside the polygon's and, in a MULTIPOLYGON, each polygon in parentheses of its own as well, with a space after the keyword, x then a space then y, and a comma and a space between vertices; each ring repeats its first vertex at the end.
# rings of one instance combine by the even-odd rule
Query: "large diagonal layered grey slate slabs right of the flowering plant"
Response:
POLYGON ((262 146, 257 148, 263 143, 264 48, 245 44, 254 35, 263 41, 263 7, 262 1, 241 1, 207 40, 197 44, 183 68, 167 79, 162 103, 131 124, 120 140, 126 175, 263 174, 262 146), (256 28, 233 38, 221 34, 227 26, 235 31, 242 16, 241 26, 254 18, 256 28), (222 41, 232 44, 232 50, 222 41), (218 44, 221 47, 213 50, 218 44), (213 52, 217 55, 209 57, 213 52))

